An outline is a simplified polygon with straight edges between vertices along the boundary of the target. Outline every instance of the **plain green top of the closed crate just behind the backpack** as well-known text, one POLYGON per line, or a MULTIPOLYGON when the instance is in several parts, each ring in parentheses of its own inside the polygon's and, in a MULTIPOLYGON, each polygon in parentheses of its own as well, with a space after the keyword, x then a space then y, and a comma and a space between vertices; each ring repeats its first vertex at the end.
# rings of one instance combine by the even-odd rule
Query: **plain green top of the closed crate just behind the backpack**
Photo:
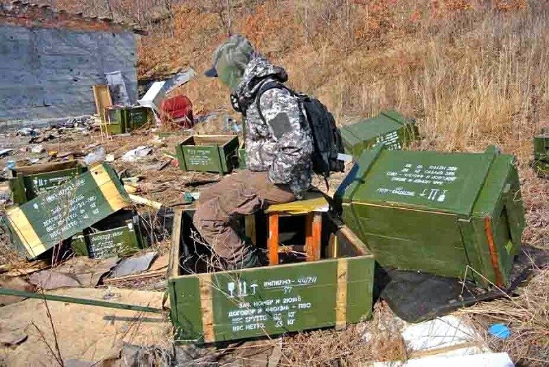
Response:
POLYGON ((342 134, 354 136, 359 140, 368 140, 379 135, 395 131, 403 125, 413 124, 413 120, 408 120, 394 110, 383 111, 373 118, 366 118, 352 125, 342 127, 342 134))

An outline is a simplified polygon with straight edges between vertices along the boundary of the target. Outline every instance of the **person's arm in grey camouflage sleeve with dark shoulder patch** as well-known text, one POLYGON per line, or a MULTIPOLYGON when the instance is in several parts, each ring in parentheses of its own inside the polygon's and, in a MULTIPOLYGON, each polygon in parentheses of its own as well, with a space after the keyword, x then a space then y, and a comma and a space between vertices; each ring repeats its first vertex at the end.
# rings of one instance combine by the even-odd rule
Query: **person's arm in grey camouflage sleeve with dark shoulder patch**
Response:
POLYGON ((273 88, 261 95, 259 107, 277 141, 269 179, 273 184, 289 184, 296 169, 307 164, 312 153, 310 132, 303 129, 299 103, 288 90, 273 88))

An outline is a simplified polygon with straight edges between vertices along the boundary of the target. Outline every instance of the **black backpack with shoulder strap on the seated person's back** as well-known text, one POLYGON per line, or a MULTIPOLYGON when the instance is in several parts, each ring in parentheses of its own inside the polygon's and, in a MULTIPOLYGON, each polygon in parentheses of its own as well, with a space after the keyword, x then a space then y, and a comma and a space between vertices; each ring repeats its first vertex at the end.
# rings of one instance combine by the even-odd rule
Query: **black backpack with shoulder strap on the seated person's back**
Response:
POLYGON ((326 179, 331 172, 343 172, 344 162, 338 159, 338 155, 344 153, 341 134, 336 127, 334 116, 318 99, 309 97, 307 94, 296 93, 278 81, 269 81, 259 88, 255 97, 261 120, 265 121, 265 118, 259 107, 259 99, 264 92, 274 88, 288 90, 298 101, 302 118, 305 118, 305 121, 309 123, 314 142, 312 155, 314 173, 322 175, 326 179))

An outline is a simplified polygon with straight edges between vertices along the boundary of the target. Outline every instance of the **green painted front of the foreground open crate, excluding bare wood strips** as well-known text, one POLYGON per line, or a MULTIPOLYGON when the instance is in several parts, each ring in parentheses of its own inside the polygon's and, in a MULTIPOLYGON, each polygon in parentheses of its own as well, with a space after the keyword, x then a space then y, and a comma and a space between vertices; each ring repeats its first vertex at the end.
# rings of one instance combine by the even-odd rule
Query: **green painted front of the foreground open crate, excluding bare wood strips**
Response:
MULTIPOLYGON (((358 322, 371 315, 374 260, 366 255, 347 262, 346 320, 358 322)), ((337 259, 212 273, 215 341, 335 326, 337 273, 337 259)), ((200 340, 198 275, 171 278, 168 288, 178 340, 200 340)))

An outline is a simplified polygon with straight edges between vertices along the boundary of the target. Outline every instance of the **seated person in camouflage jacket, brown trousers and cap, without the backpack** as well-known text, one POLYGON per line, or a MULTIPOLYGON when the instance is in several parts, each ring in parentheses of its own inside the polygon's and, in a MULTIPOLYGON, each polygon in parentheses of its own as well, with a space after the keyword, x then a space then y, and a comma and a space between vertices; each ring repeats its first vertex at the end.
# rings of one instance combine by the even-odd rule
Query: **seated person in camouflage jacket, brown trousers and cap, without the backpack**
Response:
POLYGON ((213 68, 205 75, 229 86, 233 106, 242 112, 247 169, 201 192, 194 225, 211 246, 215 265, 259 266, 262 253, 238 235, 235 223, 239 216, 269 204, 303 197, 312 179, 312 133, 289 90, 271 88, 257 95, 271 81, 287 81, 288 74, 259 55, 243 36, 231 36, 215 50, 213 68))

